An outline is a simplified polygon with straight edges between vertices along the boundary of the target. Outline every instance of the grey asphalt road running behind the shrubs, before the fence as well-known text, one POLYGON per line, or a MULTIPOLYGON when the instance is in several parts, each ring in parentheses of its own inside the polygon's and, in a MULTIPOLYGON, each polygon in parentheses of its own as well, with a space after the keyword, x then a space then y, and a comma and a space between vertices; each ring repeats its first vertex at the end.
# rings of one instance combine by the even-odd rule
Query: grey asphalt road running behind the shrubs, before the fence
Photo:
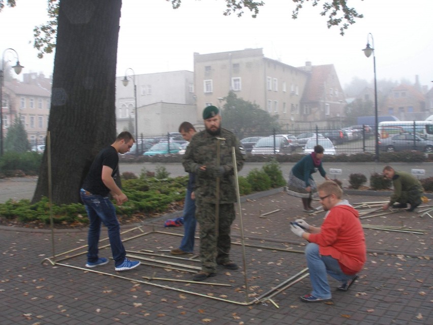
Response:
MULTIPOLYGON (((284 178, 287 180, 289 172, 295 163, 281 163, 281 169, 284 178)), ((260 169, 264 163, 246 163, 242 170, 239 172, 240 176, 246 176, 248 173, 254 169, 260 169)), ((349 175, 352 173, 361 173, 367 177, 375 172, 382 172, 385 163, 324 163, 324 168, 326 172, 329 173, 329 168, 341 169, 342 174, 332 175, 328 174, 331 179, 338 179, 343 182, 343 186, 349 186, 349 175)), ((411 172, 411 169, 424 169, 425 175, 419 176, 419 178, 433 177, 433 163, 391 163, 395 169, 404 170, 411 172)), ((180 163, 168 163, 168 164, 154 164, 154 163, 120 163, 120 172, 131 171, 139 175, 143 168, 146 171, 156 171, 158 166, 164 166, 170 173, 171 177, 187 175, 183 170, 180 163)), ((315 180, 320 183, 321 176, 317 173, 314 176, 315 180)), ((15 178, 15 179, 5 179, 0 180, 0 203, 6 202, 8 199, 13 198, 15 200, 19 199, 31 199, 33 192, 35 191, 37 178, 15 178)))

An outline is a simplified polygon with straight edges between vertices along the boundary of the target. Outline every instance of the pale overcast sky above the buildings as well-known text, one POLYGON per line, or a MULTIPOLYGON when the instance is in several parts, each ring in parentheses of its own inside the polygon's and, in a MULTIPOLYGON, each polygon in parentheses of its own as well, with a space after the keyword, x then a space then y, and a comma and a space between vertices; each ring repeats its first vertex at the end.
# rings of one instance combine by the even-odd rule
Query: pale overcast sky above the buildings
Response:
MULTIPOLYGON (((54 55, 40 60, 33 48, 33 28, 47 19, 46 0, 17 0, 0 13, 0 51, 18 52, 23 72, 51 75, 54 55)), ((433 86, 433 1, 349 0, 364 14, 339 35, 326 26, 320 8, 307 3, 293 20, 291 0, 264 0, 257 18, 223 16, 224 0, 182 0, 173 10, 166 0, 123 0, 117 53, 117 75, 193 71, 193 54, 263 48, 266 57, 299 67, 334 64, 342 86, 353 77, 374 78, 373 57, 366 58, 368 33, 374 37, 378 80, 415 81, 433 86)), ((324 2, 322 0, 321 2, 324 2)), ((320 7, 320 6, 319 6, 320 7)), ((373 45, 370 43, 370 45, 373 45)), ((6 54, 6 58, 14 59, 6 54)), ((15 63, 14 60, 12 60, 15 63)))

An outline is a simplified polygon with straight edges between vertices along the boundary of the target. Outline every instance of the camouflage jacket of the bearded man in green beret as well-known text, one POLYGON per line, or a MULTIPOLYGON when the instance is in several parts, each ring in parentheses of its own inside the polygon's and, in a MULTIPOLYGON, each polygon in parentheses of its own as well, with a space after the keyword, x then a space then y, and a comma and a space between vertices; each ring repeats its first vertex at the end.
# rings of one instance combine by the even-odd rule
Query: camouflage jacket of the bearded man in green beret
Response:
MULTIPOLYGON (((225 129, 221 129, 220 138, 220 166, 224 168, 224 175, 220 178, 220 204, 236 202, 236 185, 234 179, 232 147, 235 148, 236 165, 239 171, 246 158, 245 150, 236 136, 225 129)), ((187 172, 196 173, 195 194, 197 201, 216 203, 217 187, 217 136, 210 135, 206 130, 196 133, 182 159, 187 172), (200 171, 200 166, 206 166, 200 171)))

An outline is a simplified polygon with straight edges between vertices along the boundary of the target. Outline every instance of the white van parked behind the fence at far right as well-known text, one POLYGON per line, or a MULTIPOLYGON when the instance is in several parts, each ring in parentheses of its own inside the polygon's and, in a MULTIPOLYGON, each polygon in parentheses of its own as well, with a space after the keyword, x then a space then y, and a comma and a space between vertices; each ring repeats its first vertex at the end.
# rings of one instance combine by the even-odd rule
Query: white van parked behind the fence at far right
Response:
POLYGON ((386 139, 400 133, 416 133, 433 140, 433 121, 384 121, 378 124, 379 136, 386 139))

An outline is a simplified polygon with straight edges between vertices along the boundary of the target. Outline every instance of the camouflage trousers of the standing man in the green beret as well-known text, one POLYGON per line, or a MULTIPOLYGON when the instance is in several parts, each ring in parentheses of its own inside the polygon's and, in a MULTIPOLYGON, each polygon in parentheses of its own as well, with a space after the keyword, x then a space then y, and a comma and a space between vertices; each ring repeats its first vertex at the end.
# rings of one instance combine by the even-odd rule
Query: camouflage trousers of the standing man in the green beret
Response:
POLYGON ((230 230, 236 217, 234 203, 220 204, 218 236, 215 233, 215 204, 196 203, 196 219, 200 225, 201 268, 204 272, 214 273, 217 263, 230 261, 230 230))

